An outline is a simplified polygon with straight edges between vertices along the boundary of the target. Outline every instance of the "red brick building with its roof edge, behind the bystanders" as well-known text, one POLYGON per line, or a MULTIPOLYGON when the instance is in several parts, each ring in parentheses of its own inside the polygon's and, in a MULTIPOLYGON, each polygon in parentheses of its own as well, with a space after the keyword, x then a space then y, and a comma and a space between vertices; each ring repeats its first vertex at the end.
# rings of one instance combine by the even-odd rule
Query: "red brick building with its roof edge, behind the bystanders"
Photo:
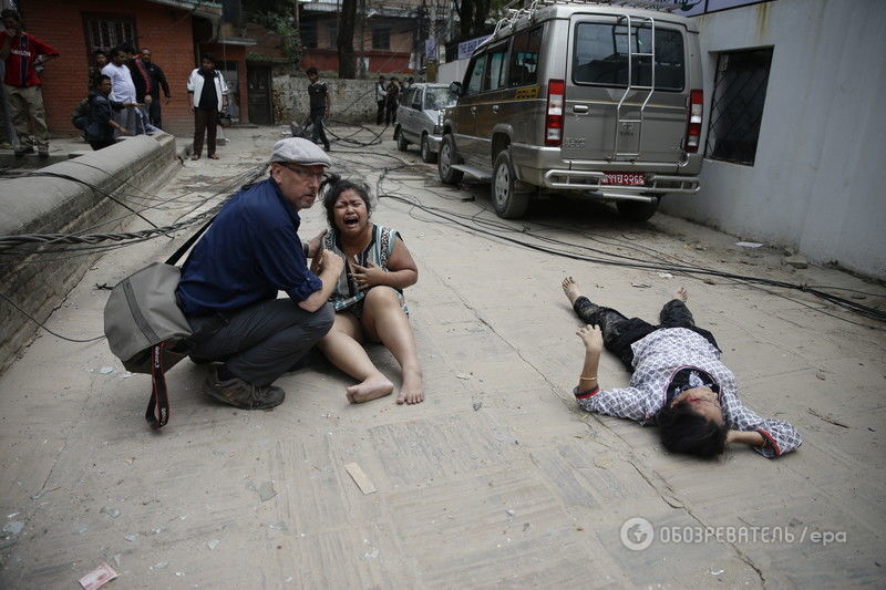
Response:
POLYGON ((163 104, 164 128, 193 133, 185 84, 199 54, 210 52, 233 92, 240 121, 248 121, 246 51, 248 39, 222 22, 222 4, 205 0, 19 0, 24 30, 61 53, 42 74, 47 123, 52 135, 76 135, 71 111, 86 96, 95 49, 120 43, 148 48, 166 74, 172 101, 163 104), (225 34, 228 33, 228 34, 225 34), (243 97, 243 100, 240 100, 243 97))

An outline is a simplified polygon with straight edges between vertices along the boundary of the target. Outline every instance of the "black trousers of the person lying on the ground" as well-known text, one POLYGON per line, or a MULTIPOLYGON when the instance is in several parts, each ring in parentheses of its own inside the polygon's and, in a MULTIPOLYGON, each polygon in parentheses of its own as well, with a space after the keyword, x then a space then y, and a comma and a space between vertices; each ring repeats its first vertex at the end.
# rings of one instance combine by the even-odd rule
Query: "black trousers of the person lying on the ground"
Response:
POLYGON ((575 312, 584 323, 600 327, 604 346, 621 359, 629 372, 633 372, 633 350, 630 348, 631 344, 662 328, 687 328, 700 334, 713 344, 717 350, 720 350, 713 334, 696 325, 692 312, 679 299, 672 299, 664 303, 664 307, 661 308, 661 313, 659 313, 659 322, 661 322, 659 325, 652 325, 640 318, 628 319, 612 308, 602 308, 591 303, 590 299, 585 296, 575 300, 573 309, 575 309, 575 312))

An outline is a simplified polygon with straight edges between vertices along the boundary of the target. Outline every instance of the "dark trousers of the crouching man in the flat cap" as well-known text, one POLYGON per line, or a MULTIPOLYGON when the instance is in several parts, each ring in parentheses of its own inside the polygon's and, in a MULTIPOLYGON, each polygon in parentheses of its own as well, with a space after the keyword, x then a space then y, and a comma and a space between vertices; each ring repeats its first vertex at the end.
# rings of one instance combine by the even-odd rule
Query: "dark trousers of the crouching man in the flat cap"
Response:
POLYGON ((336 312, 323 306, 313 313, 291 299, 259 301, 213 315, 189 315, 195 361, 224 361, 235 376, 270 385, 323 338, 336 312))

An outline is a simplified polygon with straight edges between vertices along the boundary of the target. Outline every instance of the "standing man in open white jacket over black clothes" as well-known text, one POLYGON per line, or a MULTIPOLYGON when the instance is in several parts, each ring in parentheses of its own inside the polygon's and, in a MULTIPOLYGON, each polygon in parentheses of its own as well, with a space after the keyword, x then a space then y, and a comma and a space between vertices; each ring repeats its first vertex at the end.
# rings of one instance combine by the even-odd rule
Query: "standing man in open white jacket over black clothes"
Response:
POLYGON ((190 112, 194 113, 194 152, 190 159, 200 158, 204 135, 207 157, 218 159, 215 153, 215 132, 218 113, 228 106, 228 86, 222 72, 215 69, 215 58, 208 53, 203 55, 200 66, 190 72, 187 93, 190 112))

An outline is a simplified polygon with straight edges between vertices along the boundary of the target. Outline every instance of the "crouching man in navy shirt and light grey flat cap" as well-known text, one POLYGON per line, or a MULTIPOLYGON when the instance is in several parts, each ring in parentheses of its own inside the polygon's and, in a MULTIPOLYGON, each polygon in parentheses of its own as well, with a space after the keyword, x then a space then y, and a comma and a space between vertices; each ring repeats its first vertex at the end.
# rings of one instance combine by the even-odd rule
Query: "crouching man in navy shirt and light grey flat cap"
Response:
POLYGON ((280 404, 285 392, 271 383, 332 327, 327 300, 344 262, 321 250, 308 269, 298 236, 298 211, 313 205, 331 164, 312 142, 277 142, 270 178, 225 204, 182 268, 176 293, 194 332, 190 358, 216 361, 207 395, 245 410, 280 404))

